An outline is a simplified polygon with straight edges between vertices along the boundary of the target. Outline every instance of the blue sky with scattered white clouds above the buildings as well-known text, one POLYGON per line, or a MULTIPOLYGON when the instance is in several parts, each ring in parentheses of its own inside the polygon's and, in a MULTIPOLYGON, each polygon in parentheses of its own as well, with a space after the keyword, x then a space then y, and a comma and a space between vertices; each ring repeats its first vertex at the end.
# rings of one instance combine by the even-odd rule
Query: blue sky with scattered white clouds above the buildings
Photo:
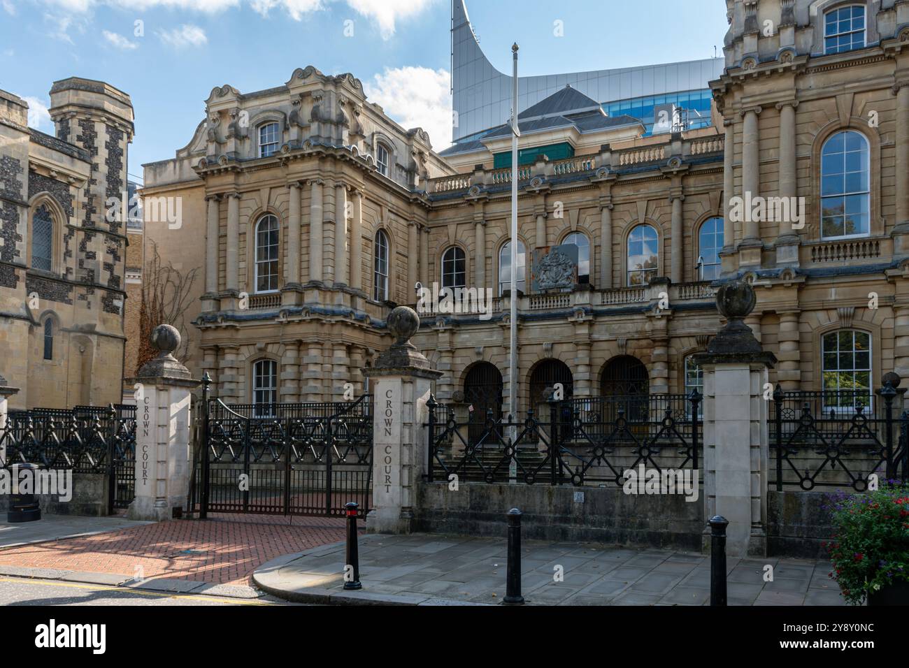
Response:
MULTIPOLYGON (((712 56, 724 5, 467 0, 486 55, 507 71, 517 41, 522 75, 712 56)), ((0 0, 0 88, 27 98, 30 125, 49 133, 43 107, 55 80, 121 88, 135 106, 129 171, 140 177, 143 163, 186 145, 215 85, 261 90, 305 65, 352 72, 370 100, 424 127, 441 150, 451 134, 450 25, 450 0, 0 0)))

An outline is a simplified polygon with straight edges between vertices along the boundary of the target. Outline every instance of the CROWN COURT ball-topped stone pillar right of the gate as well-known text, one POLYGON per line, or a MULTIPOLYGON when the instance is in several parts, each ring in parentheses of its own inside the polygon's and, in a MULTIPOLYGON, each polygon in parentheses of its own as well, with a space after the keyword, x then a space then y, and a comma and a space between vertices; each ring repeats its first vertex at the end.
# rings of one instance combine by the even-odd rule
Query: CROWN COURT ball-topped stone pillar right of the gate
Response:
POLYGON ((410 533, 416 485, 426 472, 425 424, 434 371, 410 343, 420 327, 413 309, 398 306, 388 316, 395 344, 363 374, 373 379, 373 503, 367 533, 410 533))

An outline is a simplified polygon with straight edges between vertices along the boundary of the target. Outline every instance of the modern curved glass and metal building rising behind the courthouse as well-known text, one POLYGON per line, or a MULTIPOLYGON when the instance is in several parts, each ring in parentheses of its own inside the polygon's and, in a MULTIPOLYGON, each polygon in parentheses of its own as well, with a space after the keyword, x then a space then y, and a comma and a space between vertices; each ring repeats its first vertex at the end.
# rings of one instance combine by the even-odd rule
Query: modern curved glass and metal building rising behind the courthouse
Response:
MULTIPOLYGON (((710 125, 707 82, 723 72, 723 58, 667 65, 644 65, 564 75, 522 76, 518 112, 571 85, 603 103, 610 116, 639 118, 647 134, 654 130, 654 106, 674 104, 688 129, 710 125)), ((494 68, 480 48, 464 0, 452 0, 452 87, 455 143, 480 138, 507 121, 512 77, 494 68)))

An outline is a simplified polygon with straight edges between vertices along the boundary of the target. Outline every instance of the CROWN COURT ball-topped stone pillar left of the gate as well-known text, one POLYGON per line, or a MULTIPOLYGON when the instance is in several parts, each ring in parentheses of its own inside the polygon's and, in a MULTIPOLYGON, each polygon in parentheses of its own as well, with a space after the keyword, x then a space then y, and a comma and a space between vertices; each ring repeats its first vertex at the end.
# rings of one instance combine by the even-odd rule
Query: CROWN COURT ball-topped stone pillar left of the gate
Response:
POLYGON ((173 352, 180 333, 159 324, 150 337, 158 356, 130 381, 136 387, 135 500, 131 520, 163 522, 182 513, 189 493, 192 378, 173 352))

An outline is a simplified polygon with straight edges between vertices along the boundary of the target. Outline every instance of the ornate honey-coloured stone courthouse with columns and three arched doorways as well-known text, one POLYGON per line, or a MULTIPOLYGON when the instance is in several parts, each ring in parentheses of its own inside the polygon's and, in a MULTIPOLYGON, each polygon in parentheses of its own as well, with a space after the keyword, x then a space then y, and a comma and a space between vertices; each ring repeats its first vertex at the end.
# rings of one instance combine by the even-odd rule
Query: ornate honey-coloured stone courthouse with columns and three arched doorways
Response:
MULTIPOLYGON (((572 88, 521 114, 524 408, 559 382, 574 396, 698 386, 692 355, 735 276, 756 288, 747 322, 779 360, 774 384, 870 393, 909 376, 909 3, 727 7, 711 125, 653 135, 572 88), (576 280, 538 289, 533 258, 555 246, 576 246, 576 280)), ((424 310, 415 344, 445 374, 440 400, 507 405, 507 127, 436 155, 353 77, 313 68, 207 105, 190 145, 146 165, 145 191, 185 197, 186 224, 155 238, 205 265, 191 365, 216 392, 362 391, 390 306, 415 304, 419 281, 493 291, 482 317, 424 310)))

